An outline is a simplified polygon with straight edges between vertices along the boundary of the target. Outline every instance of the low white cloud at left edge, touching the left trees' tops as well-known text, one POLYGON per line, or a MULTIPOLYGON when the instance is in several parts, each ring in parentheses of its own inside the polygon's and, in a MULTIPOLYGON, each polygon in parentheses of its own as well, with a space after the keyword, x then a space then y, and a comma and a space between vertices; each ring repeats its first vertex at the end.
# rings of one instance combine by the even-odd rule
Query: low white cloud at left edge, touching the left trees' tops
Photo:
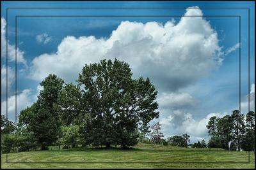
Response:
MULTIPOLYGON (((17 94, 17 114, 27 106, 33 104, 35 96, 31 90, 25 89, 17 94)), ((1 103, 1 113, 6 115, 6 100, 1 103)), ((8 118, 15 121, 15 95, 8 97, 8 118)))

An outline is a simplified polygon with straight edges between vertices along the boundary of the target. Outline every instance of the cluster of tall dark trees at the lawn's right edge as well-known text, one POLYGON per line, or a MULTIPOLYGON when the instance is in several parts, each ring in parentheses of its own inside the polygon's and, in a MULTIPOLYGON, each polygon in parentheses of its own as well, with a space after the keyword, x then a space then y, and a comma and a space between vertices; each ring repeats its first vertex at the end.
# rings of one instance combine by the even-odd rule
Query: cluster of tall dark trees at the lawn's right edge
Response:
POLYGON ((255 150, 255 113, 246 115, 234 110, 232 115, 209 119, 209 146, 225 150, 255 150))

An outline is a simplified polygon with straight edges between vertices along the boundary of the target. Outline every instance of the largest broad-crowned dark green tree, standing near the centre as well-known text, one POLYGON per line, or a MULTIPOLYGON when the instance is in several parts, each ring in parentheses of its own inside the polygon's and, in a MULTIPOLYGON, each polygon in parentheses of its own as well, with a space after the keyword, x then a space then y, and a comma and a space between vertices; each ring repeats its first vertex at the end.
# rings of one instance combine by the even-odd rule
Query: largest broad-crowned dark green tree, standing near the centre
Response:
POLYGON ((134 146, 138 143, 138 124, 147 125, 159 117, 154 85, 148 78, 132 80, 125 62, 101 60, 85 65, 77 81, 84 85, 82 109, 91 121, 90 129, 83 125, 84 136, 92 136, 95 145, 134 146))

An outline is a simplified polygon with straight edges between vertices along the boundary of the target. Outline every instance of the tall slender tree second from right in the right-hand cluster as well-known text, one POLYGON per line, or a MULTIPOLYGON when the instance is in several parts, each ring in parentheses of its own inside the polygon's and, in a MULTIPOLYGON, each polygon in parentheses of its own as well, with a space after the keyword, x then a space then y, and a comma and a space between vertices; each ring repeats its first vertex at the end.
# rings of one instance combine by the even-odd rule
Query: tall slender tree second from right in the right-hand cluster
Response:
POLYGON ((237 149, 241 150, 241 142, 244 136, 244 115, 239 110, 234 110, 232 115, 232 138, 237 145, 237 149))

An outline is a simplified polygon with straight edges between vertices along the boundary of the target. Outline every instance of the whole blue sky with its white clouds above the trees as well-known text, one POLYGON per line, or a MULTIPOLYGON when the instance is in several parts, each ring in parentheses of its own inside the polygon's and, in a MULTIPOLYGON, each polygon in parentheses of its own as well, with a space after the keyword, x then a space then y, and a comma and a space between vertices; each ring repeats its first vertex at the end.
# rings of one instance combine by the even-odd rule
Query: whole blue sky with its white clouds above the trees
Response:
POLYGON ((115 58, 130 65, 133 78, 148 77, 155 85, 160 114, 150 125, 160 122, 165 138, 188 133, 191 142, 207 141, 209 118, 239 110, 239 92, 241 112, 248 112, 248 94, 250 110, 255 110, 253 2, 1 2, 1 6, 1 113, 6 115, 7 92, 8 117, 13 121, 15 82, 19 114, 36 101, 42 90, 39 83, 48 74, 76 83, 85 64, 115 58), (56 9, 60 7, 65 9, 56 9), (250 81, 246 8, 250 8, 250 81))

